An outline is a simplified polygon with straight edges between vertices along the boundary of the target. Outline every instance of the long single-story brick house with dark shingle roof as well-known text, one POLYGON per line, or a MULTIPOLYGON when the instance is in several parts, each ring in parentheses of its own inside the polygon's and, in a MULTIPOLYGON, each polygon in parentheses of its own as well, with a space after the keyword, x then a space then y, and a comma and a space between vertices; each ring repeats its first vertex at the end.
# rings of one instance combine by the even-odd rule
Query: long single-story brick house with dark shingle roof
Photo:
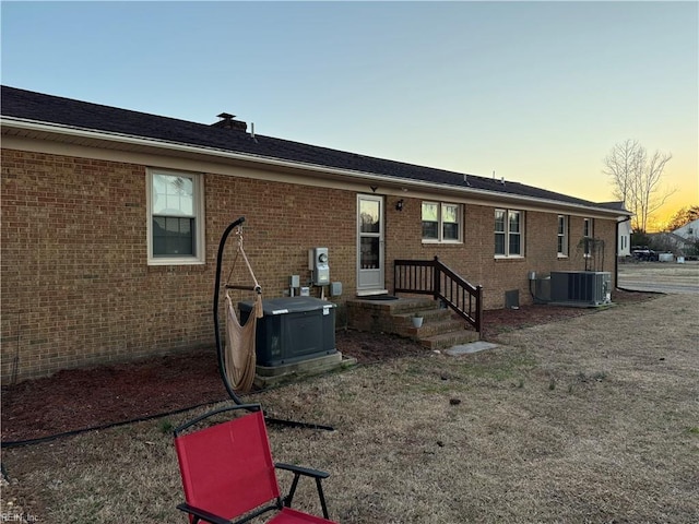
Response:
POLYGON ((438 255, 486 309, 512 290, 531 302, 530 271, 584 269, 584 237, 614 269, 619 210, 565 194, 256 135, 226 114, 7 86, 1 112, 3 381, 212 346, 216 249, 238 216, 268 298, 329 249, 339 325, 348 298, 392 291, 396 259, 438 255))

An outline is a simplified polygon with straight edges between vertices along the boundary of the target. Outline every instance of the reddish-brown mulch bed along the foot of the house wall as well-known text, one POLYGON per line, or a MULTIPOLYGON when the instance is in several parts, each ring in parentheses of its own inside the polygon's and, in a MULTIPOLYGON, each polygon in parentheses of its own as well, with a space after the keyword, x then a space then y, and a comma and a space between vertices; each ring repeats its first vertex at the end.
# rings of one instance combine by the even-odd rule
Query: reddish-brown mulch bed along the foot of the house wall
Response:
MULTIPOLYGON (((648 300, 656 295, 616 291, 614 301, 648 300)), ((483 338, 499 333, 587 314, 584 308, 523 306, 484 312, 483 338)), ((426 352, 393 335, 339 331, 337 350, 358 364, 375 364, 426 352)), ((90 369, 2 386, 2 443, 49 438, 111 424, 225 401, 215 349, 90 369)))

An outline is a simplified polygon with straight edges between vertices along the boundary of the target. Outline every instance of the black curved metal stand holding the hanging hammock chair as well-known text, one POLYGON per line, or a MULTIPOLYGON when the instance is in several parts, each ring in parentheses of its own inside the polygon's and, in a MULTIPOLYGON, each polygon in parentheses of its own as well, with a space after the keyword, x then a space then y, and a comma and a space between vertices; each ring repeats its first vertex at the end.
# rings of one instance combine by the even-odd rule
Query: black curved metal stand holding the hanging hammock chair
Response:
MULTIPOLYGON (((226 354, 224 353, 223 349, 223 343, 221 341, 221 324, 218 322, 218 299, 220 299, 220 293, 221 293, 221 270, 222 270, 222 263, 223 263, 223 253, 226 247, 226 240, 228 239, 228 236, 230 235, 230 233, 236 228, 236 227, 240 227, 242 225, 242 223, 245 222, 245 217, 241 216, 239 218, 237 218, 236 221, 234 221, 233 223, 230 223, 228 225, 228 227, 226 227, 226 229, 224 230, 222 237, 221 237, 221 241, 218 242, 218 252, 216 254, 216 281, 215 281, 215 286, 214 286, 214 303, 213 303, 213 314, 214 314, 214 332, 215 332, 215 336, 216 336, 216 353, 217 353, 217 357, 218 357, 218 372, 221 373, 221 379, 223 380, 224 386, 226 388, 226 391, 228 392, 228 395, 230 396, 230 398, 233 400, 234 403, 236 403, 237 405, 244 406, 247 405, 246 403, 242 402, 242 400, 238 396, 238 394, 235 392, 235 388, 234 385, 230 383, 230 380, 228 379, 228 373, 226 372, 226 354)), ((252 270, 250 267, 250 264, 248 262, 247 257, 245 255, 245 251, 242 251, 242 246, 239 245, 238 250, 240 252, 242 252, 242 257, 246 261, 246 264, 248 265, 248 270, 250 271, 250 273, 252 274, 252 270)), ((254 275, 252 275, 252 278, 254 279, 254 275)), ((259 295, 262 294, 262 288, 260 287, 260 285, 257 283, 254 283, 253 286, 244 286, 244 285, 230 285, 230 284, 226 284, 225 285, 226 289, 240 289, 240 290, 247 290, 247 291, 254 291, 259 295)), ((248 321, 253 321, 253 315, 251 314, 250 318, 248 319, 248 321)), ((323 430, 328 430, 328 431, 333 431, 334 428, 331 426, 323 426, 323 425, 318 425, 318 424, 310 424, 310 422, 299 422, 299 421, 295 421, 295 420, 285 420, 285 419, 279 419, 279 418, 272 418, 269 417, 266 415, 266 413, 264 414, 264 418, 266 421, 271 422, 271 424, 281 424, 284 426, 291 426, 291 427, 295 427, 295 428, 309 428, 309 429, 323 429, 323 430)))

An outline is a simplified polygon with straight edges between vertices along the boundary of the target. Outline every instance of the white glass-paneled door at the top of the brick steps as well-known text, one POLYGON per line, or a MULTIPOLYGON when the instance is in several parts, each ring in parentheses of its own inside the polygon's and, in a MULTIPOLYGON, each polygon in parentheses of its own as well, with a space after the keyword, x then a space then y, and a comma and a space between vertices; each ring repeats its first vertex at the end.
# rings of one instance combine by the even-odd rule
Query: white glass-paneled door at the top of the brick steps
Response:
POLYGON ((386 291, 383 196, 357 195, 357 295, 386 291))

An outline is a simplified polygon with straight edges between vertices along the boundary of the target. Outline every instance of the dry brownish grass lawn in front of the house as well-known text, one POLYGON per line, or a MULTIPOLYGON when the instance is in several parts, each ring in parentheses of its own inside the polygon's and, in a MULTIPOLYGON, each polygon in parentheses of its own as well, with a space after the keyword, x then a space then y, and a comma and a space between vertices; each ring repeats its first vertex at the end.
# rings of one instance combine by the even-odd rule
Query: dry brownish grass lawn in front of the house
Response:
MULTIPOLYGON (((270 434, 277 461, 331 472, 345 524, 699 522, 698 311, 663 296, 254 400, 336 428, 270 434)), ((3 515, 183 524, 166 428, 192 415, 3 450, 3 515)))

